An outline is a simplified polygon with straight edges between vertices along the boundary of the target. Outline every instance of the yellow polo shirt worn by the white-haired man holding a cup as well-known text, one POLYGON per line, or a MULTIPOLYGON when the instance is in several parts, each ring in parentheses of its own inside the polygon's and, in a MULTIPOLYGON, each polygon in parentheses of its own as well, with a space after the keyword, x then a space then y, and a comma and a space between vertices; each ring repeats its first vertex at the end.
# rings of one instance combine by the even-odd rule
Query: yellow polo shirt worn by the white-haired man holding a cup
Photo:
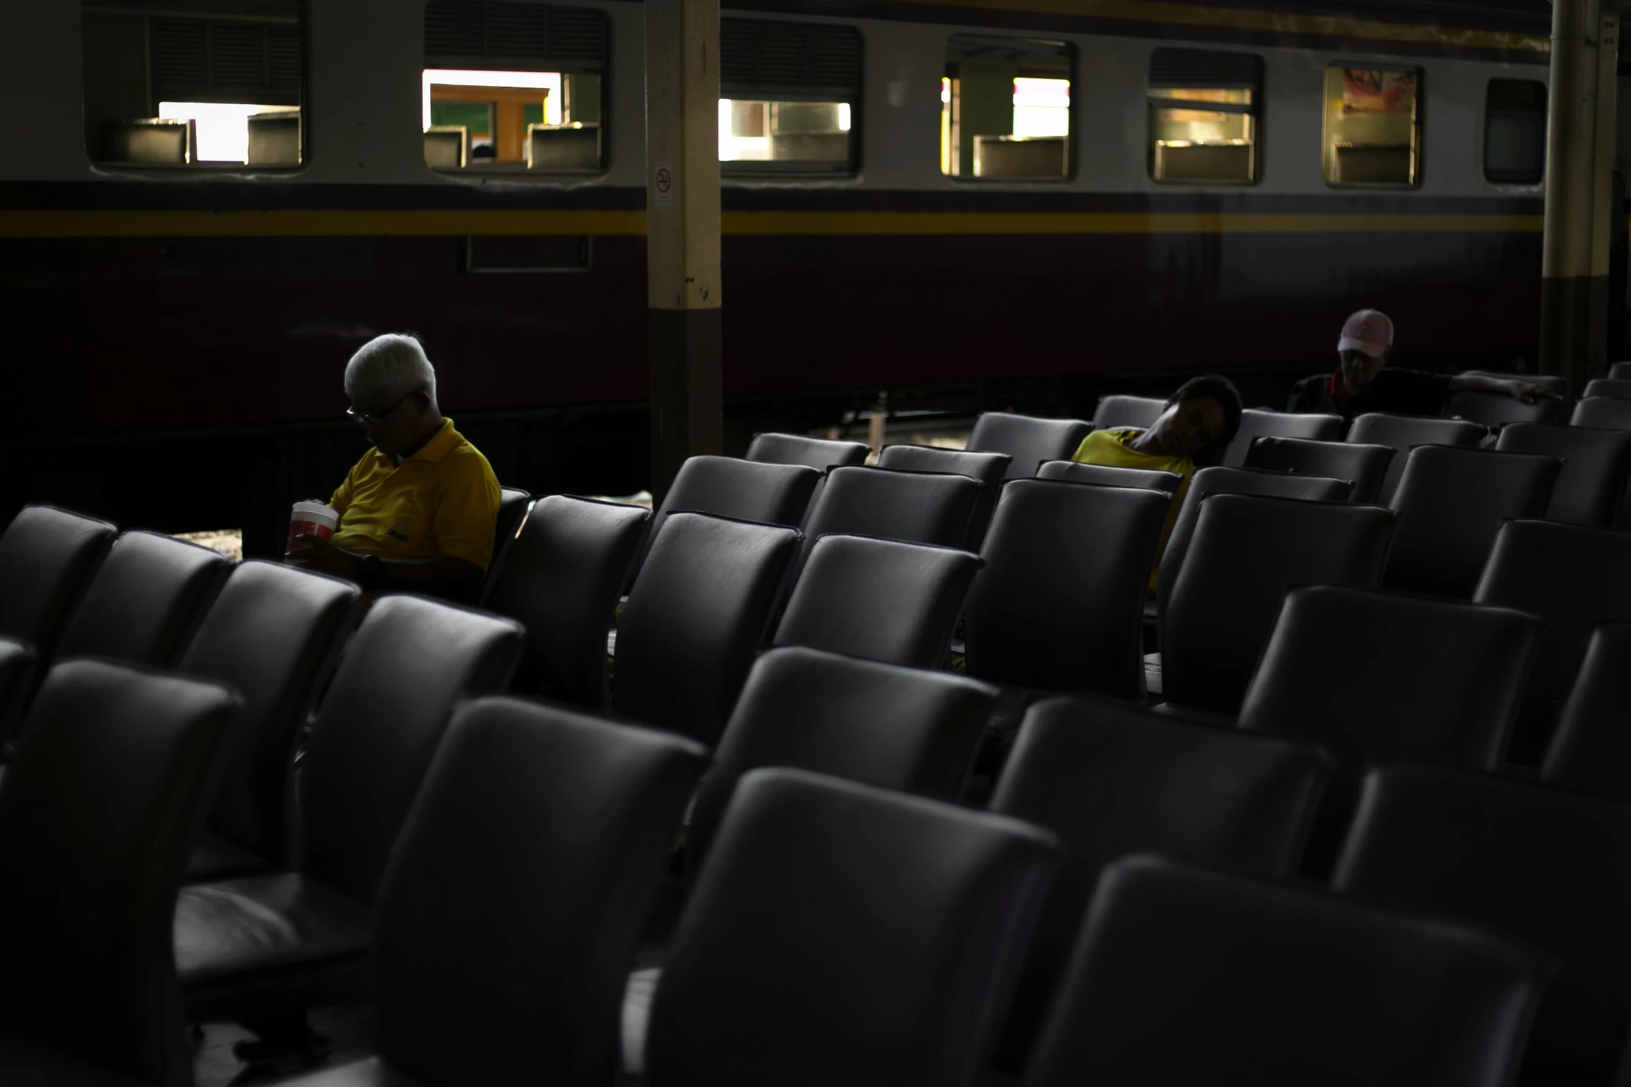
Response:
POLYGON ((346 551, 382 559, 450 554, 483 570, 493 559, 499 481, 452 419, 401 464, 378 450, 364 453, 328 504, 339 512, 334 544, 346 551))

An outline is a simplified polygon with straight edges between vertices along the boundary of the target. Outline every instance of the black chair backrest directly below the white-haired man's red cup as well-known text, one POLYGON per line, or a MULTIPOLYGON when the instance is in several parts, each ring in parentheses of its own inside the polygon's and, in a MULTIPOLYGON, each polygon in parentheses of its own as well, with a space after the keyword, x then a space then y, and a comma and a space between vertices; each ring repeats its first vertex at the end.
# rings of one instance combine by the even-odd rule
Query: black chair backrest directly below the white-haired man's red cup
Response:
POLYGON ((338 577, 251 559, 227 577, 176 665, 243 696, 210 825, 267 860, 290 860, 295 735, 333 675, 360 595, 338 577))

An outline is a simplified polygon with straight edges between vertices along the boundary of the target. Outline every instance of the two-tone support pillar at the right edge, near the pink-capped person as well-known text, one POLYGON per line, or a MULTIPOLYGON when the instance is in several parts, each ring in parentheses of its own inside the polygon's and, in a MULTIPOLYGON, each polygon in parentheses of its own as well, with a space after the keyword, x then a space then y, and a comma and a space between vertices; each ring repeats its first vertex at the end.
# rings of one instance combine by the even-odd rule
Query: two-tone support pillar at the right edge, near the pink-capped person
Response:
POLYGON ((1620 0, 1553 0, 1541 259, 1545 373, 1607 372, 1620 0))

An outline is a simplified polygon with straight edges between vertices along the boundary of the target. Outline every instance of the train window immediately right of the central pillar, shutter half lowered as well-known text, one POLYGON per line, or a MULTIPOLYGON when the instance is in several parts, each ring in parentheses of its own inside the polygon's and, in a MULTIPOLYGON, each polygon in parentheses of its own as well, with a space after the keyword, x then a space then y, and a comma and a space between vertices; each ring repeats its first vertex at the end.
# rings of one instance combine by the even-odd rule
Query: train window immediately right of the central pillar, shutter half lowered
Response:
POLYGON ((860 98, 853 26, 719 20, 723 173, 855 173, 860 98))

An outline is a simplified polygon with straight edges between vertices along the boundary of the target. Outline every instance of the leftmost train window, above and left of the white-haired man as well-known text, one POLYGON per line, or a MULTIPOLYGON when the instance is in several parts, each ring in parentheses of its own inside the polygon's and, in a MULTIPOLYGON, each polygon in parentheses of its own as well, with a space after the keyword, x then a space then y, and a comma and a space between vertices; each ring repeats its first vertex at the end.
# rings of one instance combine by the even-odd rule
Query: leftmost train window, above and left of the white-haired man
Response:
POLYGON ((298 0, 93 0, 80 24, 85 148, 95 161, 300 165, 298 0))

